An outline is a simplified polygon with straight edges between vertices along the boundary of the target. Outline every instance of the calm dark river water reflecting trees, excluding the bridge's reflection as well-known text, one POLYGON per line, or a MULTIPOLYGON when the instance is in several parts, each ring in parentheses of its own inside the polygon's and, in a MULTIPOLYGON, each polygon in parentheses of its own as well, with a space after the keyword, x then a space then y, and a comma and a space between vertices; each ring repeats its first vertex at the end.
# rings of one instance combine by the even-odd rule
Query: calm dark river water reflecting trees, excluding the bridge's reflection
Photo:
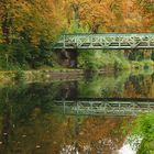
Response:
POLYGON ((96 116, 95 111, 69 114, 64 105, 55 102, 78 98, 154 99, 154 74, 121 73, 1 87, 0 154, 135 153, 127 143, 133 117, 96 116))

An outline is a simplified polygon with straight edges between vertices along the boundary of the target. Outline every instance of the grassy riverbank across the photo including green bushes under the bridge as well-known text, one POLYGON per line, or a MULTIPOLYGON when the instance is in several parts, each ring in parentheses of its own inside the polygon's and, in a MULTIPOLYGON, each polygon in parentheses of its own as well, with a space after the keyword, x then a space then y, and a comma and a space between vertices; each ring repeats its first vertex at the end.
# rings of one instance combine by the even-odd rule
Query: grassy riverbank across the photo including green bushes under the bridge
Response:
POLYGON ((141 72, 153 70, 154 61, 140 59, 130 61, 120 51, 81 51, 78 54, 78 68, 65 68, 62 65, 41 65, 36 69, 28 67, 24 69, 20 65, 9 65, 9 69, 0 65, 0 84, 8 84, 18 80, 43 81, 46 79, 70 79, 84 75, 84 73, 114 73, 121 70, 141 72), (2 72, 3 70, 3 72, 2 72))

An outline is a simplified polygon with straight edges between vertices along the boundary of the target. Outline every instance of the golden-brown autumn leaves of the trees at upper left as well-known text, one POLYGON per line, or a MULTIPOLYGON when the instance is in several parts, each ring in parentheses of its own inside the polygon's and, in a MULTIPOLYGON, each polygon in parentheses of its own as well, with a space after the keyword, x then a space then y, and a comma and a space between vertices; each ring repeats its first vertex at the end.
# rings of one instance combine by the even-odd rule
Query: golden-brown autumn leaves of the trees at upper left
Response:
POLYGON ((29 33, 33 44, 38 43, 41 38, 53 41, 65 26, 61 0, 7 0, 0 2, 0 14, 6 13, 8 21, 11 21, 11 33, 29 33))

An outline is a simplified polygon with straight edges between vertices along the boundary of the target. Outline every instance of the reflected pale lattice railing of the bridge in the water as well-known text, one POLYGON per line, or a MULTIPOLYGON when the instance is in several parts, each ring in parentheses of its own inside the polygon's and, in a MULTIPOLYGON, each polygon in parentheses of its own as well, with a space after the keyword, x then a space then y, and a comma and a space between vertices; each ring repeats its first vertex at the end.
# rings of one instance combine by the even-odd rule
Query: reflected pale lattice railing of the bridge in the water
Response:
POLYGON ((154 112, 154 102, 55 101, 68 114, 136 116, 154 112))

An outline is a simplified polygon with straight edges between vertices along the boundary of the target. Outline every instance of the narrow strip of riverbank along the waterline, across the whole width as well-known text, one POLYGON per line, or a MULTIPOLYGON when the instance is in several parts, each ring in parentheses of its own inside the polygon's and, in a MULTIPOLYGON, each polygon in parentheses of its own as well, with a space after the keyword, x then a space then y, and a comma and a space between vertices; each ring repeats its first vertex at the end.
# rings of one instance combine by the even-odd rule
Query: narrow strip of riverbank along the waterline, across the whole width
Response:
MULTIPOLYGON (((132 67, 132 69, 123 70, 127 74, 152 74, 153 67, 143 69, 143 67, 132 67)), ((121 73, 120 70, 98 69, 98 70, 85 70, 85 69, 70 69, 70 68, 44 68, 40 70, 3 70, 0 72, 0 86, 8 84, 15 84, 16 81, 36 82, 36 81, 51 81, 51 80, 79 80, 85 76, 94 75, 116 75, 121 73)))

